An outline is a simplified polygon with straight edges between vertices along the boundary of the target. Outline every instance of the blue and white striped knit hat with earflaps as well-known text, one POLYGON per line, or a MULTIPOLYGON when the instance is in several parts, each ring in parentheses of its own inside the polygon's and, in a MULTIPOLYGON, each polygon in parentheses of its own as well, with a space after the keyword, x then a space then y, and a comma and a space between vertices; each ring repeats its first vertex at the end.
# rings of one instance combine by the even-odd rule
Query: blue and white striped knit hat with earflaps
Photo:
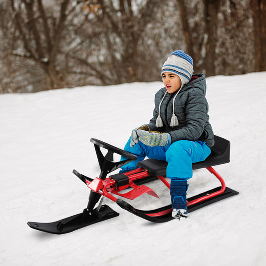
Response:
POLYGON ((189 83, 193 74, 193 60, 191 56, 182 50, 172 52, 162 67, 162 74, 171 72, 179 76, 181 79, 181 88, 189 83))

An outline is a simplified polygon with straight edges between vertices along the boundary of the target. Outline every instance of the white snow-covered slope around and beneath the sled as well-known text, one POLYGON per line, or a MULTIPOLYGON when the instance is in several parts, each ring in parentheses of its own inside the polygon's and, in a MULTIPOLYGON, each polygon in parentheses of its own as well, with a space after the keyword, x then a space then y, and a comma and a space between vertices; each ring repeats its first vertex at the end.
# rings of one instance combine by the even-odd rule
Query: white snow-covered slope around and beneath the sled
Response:
MULTIPOLYGON (((238 196, 163 224, 144 221, 105 200, 119 217, 51 235, 27 221, 52 222, 81 212, 89 189, 72 169, 99 174, 91 137, 123 148, 148 123, 161 82, 87 86, 0 95, 1 266, 266 265, 266 72, 207 79, 215 134, 231 141, 231 162, 214 167, 238 196)), ((188 196, 219 186, 194 172, 188 196)), ((152 184, 135 207, 169 204, 152 184)))

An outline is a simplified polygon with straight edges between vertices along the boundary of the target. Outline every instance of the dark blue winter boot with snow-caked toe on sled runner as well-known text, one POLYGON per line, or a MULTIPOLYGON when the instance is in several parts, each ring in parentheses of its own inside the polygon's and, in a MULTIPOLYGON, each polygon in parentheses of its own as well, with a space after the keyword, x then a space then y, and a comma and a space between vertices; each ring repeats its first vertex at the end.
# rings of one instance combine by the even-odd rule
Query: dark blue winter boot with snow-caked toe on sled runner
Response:
POLYGON ((172 179, 170 186, 170 194, 172 200, 172 217, 180 219, 181 217, 188 217, 187 207, 187 180, 172 179))

